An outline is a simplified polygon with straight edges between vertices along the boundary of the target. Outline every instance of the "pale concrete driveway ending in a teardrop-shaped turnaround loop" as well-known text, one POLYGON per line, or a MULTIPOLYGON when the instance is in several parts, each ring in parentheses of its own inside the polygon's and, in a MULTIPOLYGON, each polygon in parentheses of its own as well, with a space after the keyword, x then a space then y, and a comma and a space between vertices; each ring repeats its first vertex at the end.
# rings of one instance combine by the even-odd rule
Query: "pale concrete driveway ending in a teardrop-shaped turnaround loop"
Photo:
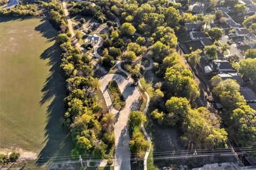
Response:
POLYGON ((132 111, 136 111, 139 108, 140 92, 137 87, 130 87, 133 83, 132 79, 126 80, 120 74, 107 74, 100 78, 101 82, 101 92, 106 100, 106 104, 109 112, 113 113, 116 118, 115 123, 115 170, 130 170, 130 136, 127 128, 128 116, 132 111), (107 91, 107 84, 109 81, 114 80, 117 82, 119 89, 121 90, 126 105, 122 111, 117 111, 114 109, 111 102, 110 96, 107 91))

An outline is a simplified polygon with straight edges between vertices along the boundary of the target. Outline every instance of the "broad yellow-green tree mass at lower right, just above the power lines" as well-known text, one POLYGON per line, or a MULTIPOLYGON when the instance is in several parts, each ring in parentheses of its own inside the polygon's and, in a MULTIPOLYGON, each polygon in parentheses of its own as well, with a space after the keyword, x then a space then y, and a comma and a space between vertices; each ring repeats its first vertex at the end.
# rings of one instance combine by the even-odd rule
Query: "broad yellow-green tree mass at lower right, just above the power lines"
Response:
POLYGON ((194 148, 222 148, 226 144, 227 132, 220 129, 219 118, 206 108, 190 109, 182 129, 181 140, 189 149, 194 148))

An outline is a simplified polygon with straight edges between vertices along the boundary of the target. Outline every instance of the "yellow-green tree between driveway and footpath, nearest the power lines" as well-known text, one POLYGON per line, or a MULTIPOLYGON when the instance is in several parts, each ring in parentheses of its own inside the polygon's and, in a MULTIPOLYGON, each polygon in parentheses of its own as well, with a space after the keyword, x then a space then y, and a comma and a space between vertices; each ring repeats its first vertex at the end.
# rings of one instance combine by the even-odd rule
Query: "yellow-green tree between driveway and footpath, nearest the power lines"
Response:
POLYGON ((145 152, 149 149, 150 142, 147 141, 141 132, 135 132, 132 135, 132 140, 130 141, 130 148, 133 154, 137 157, 143 158, 145 152))

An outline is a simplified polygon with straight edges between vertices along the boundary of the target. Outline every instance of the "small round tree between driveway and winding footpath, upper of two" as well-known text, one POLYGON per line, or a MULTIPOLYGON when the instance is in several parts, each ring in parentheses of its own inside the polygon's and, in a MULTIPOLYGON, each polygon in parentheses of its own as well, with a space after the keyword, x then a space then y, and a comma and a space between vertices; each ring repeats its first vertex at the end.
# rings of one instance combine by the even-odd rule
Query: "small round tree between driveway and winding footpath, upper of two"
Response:
POLYGON ((134 130, 135 126, 139 126, 141 123, 144 123, 147 121, 147 118, 145 115, 143 115, 140 111, 133 111, 129 115, 130 118, 130 125, 132 128, 132 131, 134 130))

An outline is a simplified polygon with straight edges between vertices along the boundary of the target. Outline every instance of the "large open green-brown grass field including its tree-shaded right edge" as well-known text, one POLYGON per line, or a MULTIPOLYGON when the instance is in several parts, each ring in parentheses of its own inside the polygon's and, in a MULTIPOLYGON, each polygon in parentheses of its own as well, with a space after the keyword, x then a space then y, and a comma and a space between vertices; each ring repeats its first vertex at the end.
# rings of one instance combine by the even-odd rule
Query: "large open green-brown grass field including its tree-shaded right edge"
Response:
POLYGON ((61 124, 66 88, 56 35, 45 19, 1 19, 0 149, 70 154, 71 138, 61 124))

